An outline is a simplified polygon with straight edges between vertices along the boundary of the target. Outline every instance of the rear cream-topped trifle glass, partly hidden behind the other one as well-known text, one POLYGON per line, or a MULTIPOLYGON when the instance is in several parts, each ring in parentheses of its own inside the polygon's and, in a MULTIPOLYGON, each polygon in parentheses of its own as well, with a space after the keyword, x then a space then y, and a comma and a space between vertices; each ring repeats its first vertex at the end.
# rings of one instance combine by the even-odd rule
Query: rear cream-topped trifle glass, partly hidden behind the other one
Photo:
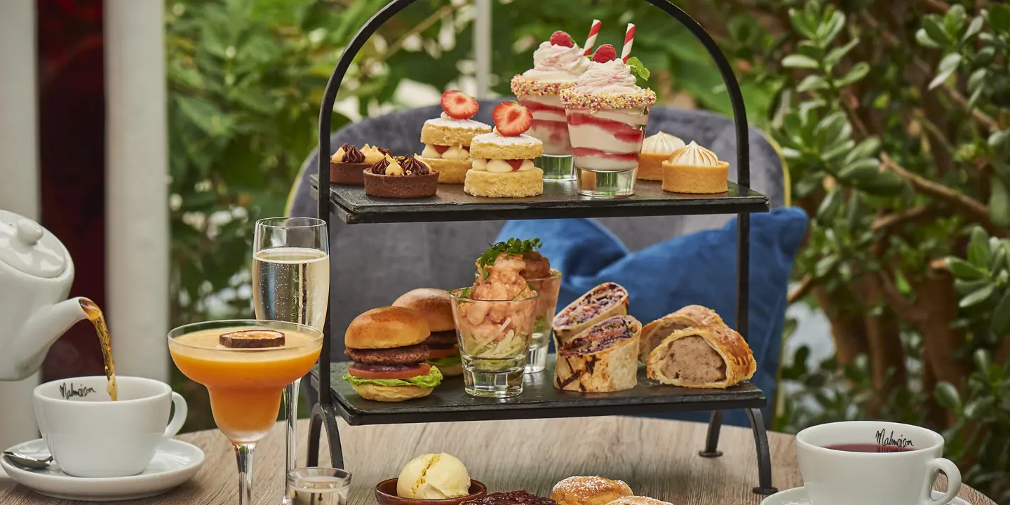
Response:
POLYGON ((527 134, 543 142, 543 156, 534 163, 543 170, 544 181, 575 179, 572 142, 559 94, 575 86, 589 68, 584 55, 568 33, 556 31, 533 52, 533 68, 512 78, 512 93, 533 114, 527 134))

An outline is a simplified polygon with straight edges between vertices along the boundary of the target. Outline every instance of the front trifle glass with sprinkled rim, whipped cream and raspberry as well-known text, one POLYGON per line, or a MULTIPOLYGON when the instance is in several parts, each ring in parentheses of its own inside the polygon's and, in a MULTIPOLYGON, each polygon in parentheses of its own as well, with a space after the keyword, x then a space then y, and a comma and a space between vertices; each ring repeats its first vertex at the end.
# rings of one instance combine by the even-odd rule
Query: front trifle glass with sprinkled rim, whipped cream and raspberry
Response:
POLYGON ((630 66, 601 45, 575 87, 561 92, 579 193, 628 196, 655 93, 640 88, 630 66))

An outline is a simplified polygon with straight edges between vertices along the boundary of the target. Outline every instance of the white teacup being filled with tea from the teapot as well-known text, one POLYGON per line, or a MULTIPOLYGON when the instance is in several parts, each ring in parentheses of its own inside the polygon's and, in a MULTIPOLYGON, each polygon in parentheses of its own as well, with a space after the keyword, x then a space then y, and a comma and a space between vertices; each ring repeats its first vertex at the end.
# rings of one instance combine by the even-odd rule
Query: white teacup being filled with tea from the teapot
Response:
POLYGON ((162 441, 186 421, 186 400, 168 384, 116 377, 111 401, 104 376, 75 377, 35 388, 38 430, 60 469, 75 477, 139 474, 162 441), (176 406, 172 422, 169 413, 176 406), (166 427, 168 423, 168 427, 166 427))

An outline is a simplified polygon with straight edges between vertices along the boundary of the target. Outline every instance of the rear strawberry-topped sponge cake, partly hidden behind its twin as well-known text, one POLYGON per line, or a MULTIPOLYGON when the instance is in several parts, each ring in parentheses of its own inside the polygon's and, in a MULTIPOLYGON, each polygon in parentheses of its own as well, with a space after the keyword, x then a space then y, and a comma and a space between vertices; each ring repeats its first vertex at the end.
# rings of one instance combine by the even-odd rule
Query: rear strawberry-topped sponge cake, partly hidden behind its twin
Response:
POLYGON ((470 142, 474 135, 490 133, 491 126, 471 119, 480 104, 462 91, 442 93, 441 106, 441 117, 421 126, 424 150, 418 158, 438 172, 440 184, 463 184, 471 167, 470 142))

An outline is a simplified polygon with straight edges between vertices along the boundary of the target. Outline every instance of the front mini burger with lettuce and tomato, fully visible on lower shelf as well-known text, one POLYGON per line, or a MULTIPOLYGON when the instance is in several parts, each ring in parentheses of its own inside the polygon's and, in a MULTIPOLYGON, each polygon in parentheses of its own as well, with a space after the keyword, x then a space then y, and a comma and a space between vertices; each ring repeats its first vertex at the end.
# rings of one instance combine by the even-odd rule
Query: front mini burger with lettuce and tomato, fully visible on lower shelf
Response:
POLYGON ((402 402, 431 394, 441 372, 424 362, 430 331, 420 313, 402 307, 372 309, 350 321, 344 354, 355 363, 343 380, 362 398, 402 402))

